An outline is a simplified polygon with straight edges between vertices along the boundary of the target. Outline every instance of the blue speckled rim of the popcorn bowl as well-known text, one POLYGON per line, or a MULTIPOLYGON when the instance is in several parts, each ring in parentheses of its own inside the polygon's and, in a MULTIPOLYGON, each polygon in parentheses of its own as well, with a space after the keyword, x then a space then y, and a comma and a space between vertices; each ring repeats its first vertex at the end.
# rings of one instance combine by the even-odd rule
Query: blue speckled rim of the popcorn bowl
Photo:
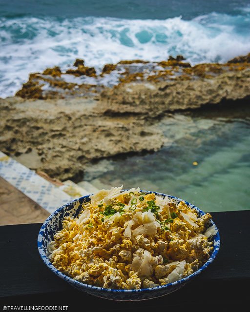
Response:
MULTIPOLYGON (((122 191, 127 191, 128 189, 124 189, 121 190, 122 191)), ((190 204, 189 202, 187 202, 184 199, 181 199, 179 197, 176 196, 172 196, 172 195, 167 195, 164 193, 159 193, 159 192, 154 192, 154 191, 145 191, 145 190, 140 190, 140 192, 144 192, 146 194, 155 194, 155 195, 160 195, 160 196, 164 196, 164 197, 168 197, 171 199, 175 199, 178 201, 184 201, 191 209, 195 209, 198 214, 201 215, 205 215, 206 213, 203 212, 201 209, 199 209, 198 207, 194 206, 193 204, 190 204)), ((91 291, 98 291, 98 292, 109 292, 109 293, 134 293, 134 292, 154 292, 154 291, 160 291, 160 290, 167 290, 170 289, 173 286, 176 285, 181 285, 186 283, 187 281, 193 279, 195 276, 199 275, 202 271, 204 271, 209 264, 211 264, 213 262, 213 260, 215 259, 216 255, 219 252, 220 249, 220 234, 219 234, 219 230, 217 228, 217 226, 215 225, 215 223, 213 222, 213 220, 210 219, 210 225, 214 225, 215 228, 218 230, 217 234, 215 234, 212 238, 213 240, 213 251, 210 254, 208 260, 194 273, 187 275, 186 277, 183 277, 175 282, 172 283, 167 283, 165 285, 160 285, 160 286, 155 286, 155 287, 151 287, 151 288, 141 288, 141 289, 109 289, 109 288, 104 288, 104 287, 98 287, 98 286, 94 286, 94 285, 90 285, 90 284, 85 284, 83 282, 79 282, 76 279, 69 277, 68 275, 62 273, 61 271, 59 271, 56 267, 53 266, 53 264, 50 262, 49 258, 47 257, 47 255, 44 252, 44 247, 42 246, 42 238, 45 237, 44 234, 44 229, 46 228, 46 226, 48 225, 48 222, 50 220, 53 219, 53 217, 58 214, 59 212, 61 212, 64 208, 66 208, 69 205, 72 205, 74 203, 76 203, 79 200, 84 200, 85 198, 89 198, 89 195, 84 195, 82 197, 76 198, 68 203, 66 203, 65 205, 63 205, 62 207, 58 208, 57 210, 55 210, 51 215, 49 215, 47 217, 47 219, 44 221, 44 223, 42 224, 42 227, 39 231, 38 234, 38 250, 39 250, 39 254, 43 260, 43 262, 45 263, 45 265, 53 272, 55 273, 57 276, 59 276, 60 278, 64 279, 65 281, 67 281, 68 283, 72 284, 73 286, 77 287, 77 288, 82 288, 82 289, 86 289, 86 290, 91 290, 91 291)))

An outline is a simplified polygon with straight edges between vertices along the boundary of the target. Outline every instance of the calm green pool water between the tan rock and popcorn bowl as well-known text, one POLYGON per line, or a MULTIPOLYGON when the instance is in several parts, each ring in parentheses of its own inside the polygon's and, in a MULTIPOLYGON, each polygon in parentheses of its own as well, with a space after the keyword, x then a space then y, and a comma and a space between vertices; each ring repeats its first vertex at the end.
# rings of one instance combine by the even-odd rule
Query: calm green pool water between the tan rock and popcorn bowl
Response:
POLYGON ((91 164, 84 180, 98 188, 124 184, 175 195, 206 212, 250 209, 249 114, 175 114, 159 127, 167 137, 160 151, 91 164))

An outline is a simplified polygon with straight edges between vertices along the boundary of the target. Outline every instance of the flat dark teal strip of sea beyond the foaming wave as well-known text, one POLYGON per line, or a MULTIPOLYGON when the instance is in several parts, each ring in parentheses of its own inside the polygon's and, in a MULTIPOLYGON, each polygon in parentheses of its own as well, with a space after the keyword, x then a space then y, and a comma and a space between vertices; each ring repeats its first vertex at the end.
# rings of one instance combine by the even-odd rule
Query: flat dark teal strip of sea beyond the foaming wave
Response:
POLYGON ((1 0, 0 16, 114 17, 191 20, 211 12, 238 14, 249 0, 1 0))

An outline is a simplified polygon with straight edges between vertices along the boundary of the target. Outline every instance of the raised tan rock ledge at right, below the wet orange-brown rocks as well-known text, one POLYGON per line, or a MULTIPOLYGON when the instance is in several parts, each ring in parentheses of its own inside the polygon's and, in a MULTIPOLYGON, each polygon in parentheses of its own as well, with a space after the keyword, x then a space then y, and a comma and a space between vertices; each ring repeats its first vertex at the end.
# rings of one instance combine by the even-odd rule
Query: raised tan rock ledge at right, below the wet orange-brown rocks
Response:
POLYGON ((250 69, 210 79, 124 84, 102 93, 105 114, 161 115, 250 98, 250 69))

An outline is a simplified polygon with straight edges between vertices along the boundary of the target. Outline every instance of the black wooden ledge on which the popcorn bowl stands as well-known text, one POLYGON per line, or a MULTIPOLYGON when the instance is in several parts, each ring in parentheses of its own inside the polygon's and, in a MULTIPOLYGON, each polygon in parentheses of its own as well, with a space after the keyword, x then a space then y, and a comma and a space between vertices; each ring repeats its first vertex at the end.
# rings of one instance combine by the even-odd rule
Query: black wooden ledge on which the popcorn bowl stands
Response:
POLYGON ((231 311, 246 304, 249 308, 250 211, 212 216, 221 236, 215 261, 182 289, 141 302, 100 299, 79 292, 50 272, 37 250, 41 223, 0 226, 0 303, 67 305, 68 311, 84 312, 231 311))

